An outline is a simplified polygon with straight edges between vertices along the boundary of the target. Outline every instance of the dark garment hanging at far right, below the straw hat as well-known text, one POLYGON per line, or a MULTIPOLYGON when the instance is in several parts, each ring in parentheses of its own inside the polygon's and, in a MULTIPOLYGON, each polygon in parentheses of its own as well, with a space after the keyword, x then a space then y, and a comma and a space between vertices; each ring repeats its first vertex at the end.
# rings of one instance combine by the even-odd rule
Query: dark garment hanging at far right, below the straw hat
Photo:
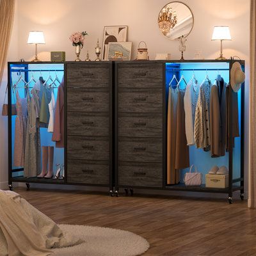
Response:
POLYGON ((226 138, 225 145, 226 150, 228 151, 228 143, 229 143, 229 108, 230 108, 230 93, 232 93, 232 135, 233 135, 233 145, 234 138, 239 137, 239 117, 238 117, 238 95, 237 92, 232 90, 232 87, 228 83, 227 85, 227 117, 226 117, 226 138))

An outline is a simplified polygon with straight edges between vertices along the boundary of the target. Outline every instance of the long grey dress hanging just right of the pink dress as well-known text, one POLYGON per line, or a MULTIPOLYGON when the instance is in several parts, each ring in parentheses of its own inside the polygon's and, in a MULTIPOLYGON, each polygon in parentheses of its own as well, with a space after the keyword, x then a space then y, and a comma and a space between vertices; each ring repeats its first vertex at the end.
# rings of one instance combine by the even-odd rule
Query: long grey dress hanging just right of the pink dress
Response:
POLYGON ((35 177, 41 169, 40 128, 36 115, 36 99, 27 93, 28 125, 26 132, 26 147, 24 160, 24 177, 35 177))

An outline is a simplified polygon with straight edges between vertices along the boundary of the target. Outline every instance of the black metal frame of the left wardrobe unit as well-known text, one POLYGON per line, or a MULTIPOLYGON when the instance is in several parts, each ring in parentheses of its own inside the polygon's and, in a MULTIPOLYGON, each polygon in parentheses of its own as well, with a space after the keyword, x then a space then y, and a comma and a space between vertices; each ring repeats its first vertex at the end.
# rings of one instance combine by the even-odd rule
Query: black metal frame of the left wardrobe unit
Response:
MULTIPOLYGON (((79 64, 76 61, 40 61, 40 62, 8 62, 8 89, 12 86, 12 81, 10 81, 10 77, 12 74, 10 65, 24 65, 24 67, 28 67, 29 64, 63 64, 64 67, 64 132, 67 134, 67 64, 72 63, 72 65, 79 64)), ((80 62, 81 63, 81 62, 80 62)), ((95 61, 88 61, 86 63, 95 64, 95 61)), ((77 185, 77 186, 97 186, 97 187, 109 187, 109 190, 113 190, 113 74, 114 74, 114 63, 113 61, 104 61, 106 65, 109 65, 109 184, 89 184, 89 183, 77 183, 77 182, 68 182, 67 181, 67 174, 68 174, 68 166, 67 166, 67 135, 65 135, 64 140, 64 163, 65 163, 65 179, 63 180, 55 180, 55 179, 36 179, 36 177, 25 178, 25 177, 12 177, 13 172, 20 172, 23 171, 24 168, 19 168, 12 170, 12 90, 8 90, 8 184, 10 189, 12 188, 12 182, 25 182, 29 188, 30 183, 38 183, 38 184, 65 184, 65 185, 77 185)), ((85 63, 84 63, 85 64, 85 63)), ((32 71, 27 70, 26 71, 32 71)), ((35 70, 33 70, 35 71, 35 70)), ((43 72, 44 70, 36 70, 39 72, 43 72)), ((49 70, 45 70, 49 71, 49 70)), ((54 70, 53 70, 54 71, 54 70)), ((28 74, 26 74, 25 80, 28 81, 28 74)))

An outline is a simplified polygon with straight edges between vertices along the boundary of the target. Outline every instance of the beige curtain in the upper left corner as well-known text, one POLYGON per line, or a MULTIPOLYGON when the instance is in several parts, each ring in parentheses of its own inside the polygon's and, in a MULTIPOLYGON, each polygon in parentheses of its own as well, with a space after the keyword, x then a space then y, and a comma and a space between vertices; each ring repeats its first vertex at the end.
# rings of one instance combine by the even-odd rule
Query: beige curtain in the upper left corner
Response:
POLYGON ((12 34, 15 0, 0 0, 0 84, 12 34))

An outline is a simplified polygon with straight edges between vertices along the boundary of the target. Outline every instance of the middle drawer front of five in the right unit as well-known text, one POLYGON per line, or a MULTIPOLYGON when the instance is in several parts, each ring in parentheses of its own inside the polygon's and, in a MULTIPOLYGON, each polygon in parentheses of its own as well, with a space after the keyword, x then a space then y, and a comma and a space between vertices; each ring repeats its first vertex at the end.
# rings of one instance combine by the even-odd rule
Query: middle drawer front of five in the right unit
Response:
POLYGON ((118 135, 127 137, 163 137, 161 113, 120 113, 118 135))

